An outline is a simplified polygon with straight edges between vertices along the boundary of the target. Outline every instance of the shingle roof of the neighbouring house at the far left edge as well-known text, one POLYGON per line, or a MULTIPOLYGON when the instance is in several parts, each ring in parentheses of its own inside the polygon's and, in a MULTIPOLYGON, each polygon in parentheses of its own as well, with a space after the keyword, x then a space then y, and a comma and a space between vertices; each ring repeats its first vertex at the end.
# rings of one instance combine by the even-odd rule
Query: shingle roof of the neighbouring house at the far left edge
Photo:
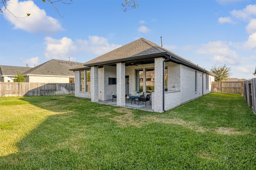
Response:
POLYGON ((24 72, 30 70, 30 67, 20 67, 20 66, 5 66, 1 65, 1 72, 0 74, 5 76, 17 76, 17 71, 21 72, 23 74, 24 72))

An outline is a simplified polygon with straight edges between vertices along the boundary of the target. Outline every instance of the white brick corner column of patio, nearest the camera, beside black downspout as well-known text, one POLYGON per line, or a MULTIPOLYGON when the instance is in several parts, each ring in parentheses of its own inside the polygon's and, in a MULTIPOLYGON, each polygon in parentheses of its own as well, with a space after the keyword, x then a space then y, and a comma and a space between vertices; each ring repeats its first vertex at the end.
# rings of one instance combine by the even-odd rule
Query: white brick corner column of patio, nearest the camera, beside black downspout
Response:
POLYGON ((163 112, 163 68, 164 68, 164 58, 156 58, 155 59, 155 85, 154 85, 154 109, 155 112, 162 113, 163 112))

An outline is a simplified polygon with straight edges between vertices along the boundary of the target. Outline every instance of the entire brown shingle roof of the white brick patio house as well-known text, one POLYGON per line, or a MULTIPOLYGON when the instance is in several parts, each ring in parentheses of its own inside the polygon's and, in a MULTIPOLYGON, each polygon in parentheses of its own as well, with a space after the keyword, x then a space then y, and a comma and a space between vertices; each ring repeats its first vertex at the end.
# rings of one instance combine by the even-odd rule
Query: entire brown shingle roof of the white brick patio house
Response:
POLYGON ((149 60, 154 59, 154 57, 164 57, 165 59, 169 59, 168 61, 172 61, 174 63, 183 64, 194 68, 196 70, 200 70, 202 72, 207 72, 208 74, 215 74, 208 72, 204 68, 168 51, 148 41, 144 38, 140 38, 136 41, 133 41, 129 44, 126 44, 122 47, 119 47, 113 51, 110 51, 100 57, 92 59, 84 63, 85 66, 96 66, 96 65, 103 65, 103 64, 114 64, 117 62, 124 62, 124 61, 136 61, 136 60, 149 60))

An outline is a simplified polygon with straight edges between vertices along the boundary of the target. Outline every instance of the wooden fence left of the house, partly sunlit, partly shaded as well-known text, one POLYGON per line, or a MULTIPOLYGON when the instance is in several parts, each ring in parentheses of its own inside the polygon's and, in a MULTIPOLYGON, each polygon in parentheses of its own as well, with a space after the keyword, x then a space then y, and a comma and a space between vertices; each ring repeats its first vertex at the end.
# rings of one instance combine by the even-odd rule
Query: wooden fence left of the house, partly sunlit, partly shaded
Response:
POLYGON ((74 83, 0 82, 0 97, 74 94, 74 83))

